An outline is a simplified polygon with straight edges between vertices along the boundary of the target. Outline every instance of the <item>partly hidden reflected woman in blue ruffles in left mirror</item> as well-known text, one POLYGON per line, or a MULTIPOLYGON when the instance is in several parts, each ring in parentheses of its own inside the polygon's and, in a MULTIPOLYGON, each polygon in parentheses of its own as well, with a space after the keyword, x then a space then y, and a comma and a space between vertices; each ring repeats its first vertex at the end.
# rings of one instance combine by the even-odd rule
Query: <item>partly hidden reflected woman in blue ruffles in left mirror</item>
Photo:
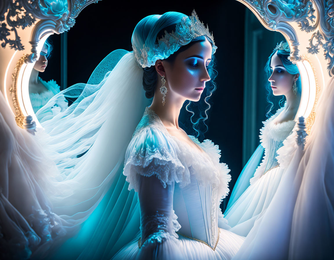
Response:
MULTIPOLYGON (((52 45, 48 42, 48 40, 46 40, 41 52, 39 53, 39 59, 35 62, 34 68, 32 69, 30 75, 29 97, 35 114, 54 95, 60 92, 60 87, 54 80, 49 80, 46 82, 38 76, 40 72, 42 73, 45 71, 48 63, 47 58, 50 56, 51 51, 52 45)), ((54 108, 54 112, 60 112, 61 109, 64 110, 67 108, 67 101, 64 97, 60 96, 55 104, 53 104, 55 106, 52 106, 52 109, 54 108)), ((52 113, 52 109, 49 109, 50 113, 52 113)), ((45 113, 43 115, 38 115, 38 120, 41 120, 44 115, 45 113)))

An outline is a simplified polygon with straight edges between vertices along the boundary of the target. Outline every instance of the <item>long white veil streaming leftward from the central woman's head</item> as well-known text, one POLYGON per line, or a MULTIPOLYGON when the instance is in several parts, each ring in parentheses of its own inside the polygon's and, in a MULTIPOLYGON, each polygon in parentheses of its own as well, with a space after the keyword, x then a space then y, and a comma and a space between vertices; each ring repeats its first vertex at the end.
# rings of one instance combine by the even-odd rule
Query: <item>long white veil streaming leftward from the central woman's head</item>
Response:
MULTIPOLYGON (((37 131, 59 169, 48 183, 54 187, 48 194, 53 211, 73 225, 87 219, 119 177, 127 145, 150 104, 142 77, 133 52, 127 52, 99 84, 85 86, 89 95, 81 95, 80 102, 43 122, 44 130, 37 131)), ((59 95, 63 92, 53 99, 59 95)))

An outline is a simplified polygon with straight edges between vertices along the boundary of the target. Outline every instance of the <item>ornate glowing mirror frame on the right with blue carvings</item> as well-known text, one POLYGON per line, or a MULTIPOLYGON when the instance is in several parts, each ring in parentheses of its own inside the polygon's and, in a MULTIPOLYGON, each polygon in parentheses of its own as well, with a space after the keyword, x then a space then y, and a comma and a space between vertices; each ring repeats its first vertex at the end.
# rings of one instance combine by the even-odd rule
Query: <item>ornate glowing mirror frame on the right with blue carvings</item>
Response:
POLYGON ((287 39, 291 60, 297 64, 302 80, 302 97, 296 118, 305 118, 306 132, 310 134, 319 97, 334 75, 333 2, 237 1, 249 8, 263 26, 281 32, 287 39))

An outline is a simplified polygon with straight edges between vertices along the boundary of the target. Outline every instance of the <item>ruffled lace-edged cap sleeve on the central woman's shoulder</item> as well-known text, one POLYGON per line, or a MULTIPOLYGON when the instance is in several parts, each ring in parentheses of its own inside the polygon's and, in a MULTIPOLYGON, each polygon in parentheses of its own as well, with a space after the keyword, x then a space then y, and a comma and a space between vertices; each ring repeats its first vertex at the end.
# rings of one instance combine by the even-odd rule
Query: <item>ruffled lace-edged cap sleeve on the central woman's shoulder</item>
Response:
POLYGON ((177 157, 177 145, 155 127, 147 127, 136 133, 125 155, 123 174, 127 176, 129 190, 138 191, 139 175, 155 175, 163 187, 173 182, 189 179, 184 165, 177 157))

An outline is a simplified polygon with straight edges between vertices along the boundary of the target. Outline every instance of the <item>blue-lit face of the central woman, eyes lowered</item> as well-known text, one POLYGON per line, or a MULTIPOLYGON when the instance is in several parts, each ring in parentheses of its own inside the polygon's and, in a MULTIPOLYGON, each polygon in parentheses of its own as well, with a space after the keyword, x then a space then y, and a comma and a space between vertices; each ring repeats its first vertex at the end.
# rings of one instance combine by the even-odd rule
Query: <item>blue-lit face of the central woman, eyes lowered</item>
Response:
POLYGON ((174 62, 164 62, 166 86, 173 96, 198 101, 210 80, 207 67, 211 61, 212 46, 205 39, 196 42, 175 57, 174 62))

